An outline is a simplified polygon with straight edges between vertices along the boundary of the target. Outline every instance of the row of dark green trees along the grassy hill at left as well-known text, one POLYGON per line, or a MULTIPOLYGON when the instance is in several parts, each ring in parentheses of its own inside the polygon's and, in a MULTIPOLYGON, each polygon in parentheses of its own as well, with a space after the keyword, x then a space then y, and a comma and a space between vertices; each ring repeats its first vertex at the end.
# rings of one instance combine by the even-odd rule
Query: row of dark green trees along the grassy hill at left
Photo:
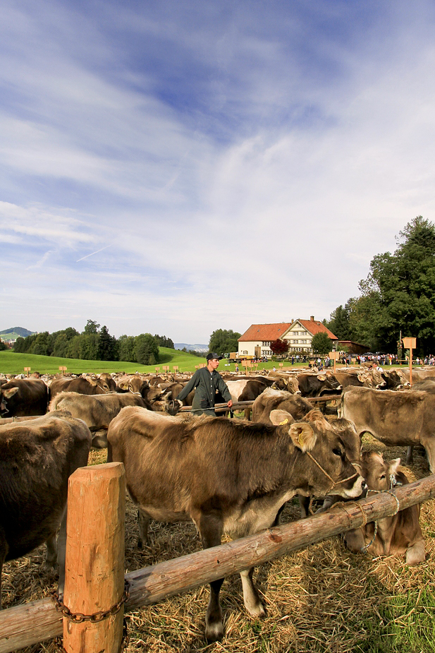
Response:
POLYGON ((13 351, 19 354, 42 354, 60 358, 87 361, 125 361, 141 365, 159 362, 159 347, 174 349, 171 338, 164 335, 110 335, 106 325, 100 327, 94 320, 87 320, 85 329, 79 333, 73 327, 49 333, 43 331, 27 337, 19 337, 13 351))

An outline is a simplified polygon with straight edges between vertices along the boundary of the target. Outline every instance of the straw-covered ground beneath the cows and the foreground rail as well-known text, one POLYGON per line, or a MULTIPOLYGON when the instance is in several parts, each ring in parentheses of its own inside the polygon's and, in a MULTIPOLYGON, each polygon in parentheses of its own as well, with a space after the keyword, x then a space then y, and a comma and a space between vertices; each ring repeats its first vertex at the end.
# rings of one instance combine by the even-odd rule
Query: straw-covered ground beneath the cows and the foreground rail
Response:
MULTIPOLYGON (((364 437, 363 448, 384 457, 405 457, 405 448, 386 450, 364 437)), ((105 462, 102 452, 92 462, 105 462)), ((415 456, 410 480, 427 476, 427 462, 415 456)), ((298 518, 288 505, 283 521, 298 518)), ((222 642, 204 640, 208 588, 186 592, 128 616, 128 653, 426 653, 435 652, 435 501, 422 505, 421 523, 427 539, 427 560, 409 568, 401 558, 373 559, 353 555, 340 537, 272 561, 257 570, 268 615, 255 621, 243 607, 240 578, 229 577, 221 598, 226 636, 222 642)), ((125 565, 131 571, 197 551, 200 544, 191 524, 152 524, 154 544, 137 551, 135 510, 128 501, 125 565)), ((7 563, 4 569, 4 607, 42 598, 55 587, 54 573, 42 570, 44 547, 7 563)), ((60 642, 22 649, 26 653, 59 651, 60 642)))

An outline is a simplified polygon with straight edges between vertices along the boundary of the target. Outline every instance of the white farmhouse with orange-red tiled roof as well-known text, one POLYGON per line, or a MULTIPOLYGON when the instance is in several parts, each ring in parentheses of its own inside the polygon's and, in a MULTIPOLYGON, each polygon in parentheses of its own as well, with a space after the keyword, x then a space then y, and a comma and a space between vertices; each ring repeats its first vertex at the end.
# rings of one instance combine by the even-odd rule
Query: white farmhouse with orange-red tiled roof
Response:
POLYGON ((270 344, 278 338, 288 341, 289 352, 311 352, 311 341, 316 333, 326 333, 334 347, 338 342, 336 335, 326 328, 319 320, 292 320, 291 322, 278 322, 274 324, 252 324, 250 328, 238 339, 238 353, 240 356, 255 356, 262 358, 271 356, 270 344))

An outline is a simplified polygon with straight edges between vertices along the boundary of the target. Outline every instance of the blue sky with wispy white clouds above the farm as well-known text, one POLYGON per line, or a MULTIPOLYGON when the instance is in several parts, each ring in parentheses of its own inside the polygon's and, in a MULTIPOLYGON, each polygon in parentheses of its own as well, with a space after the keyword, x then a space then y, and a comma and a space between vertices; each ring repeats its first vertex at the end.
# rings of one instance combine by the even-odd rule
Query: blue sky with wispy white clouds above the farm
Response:
POLYGON ((435 221, 435 2, 2 0, 0 330, 329 318, 435 221))

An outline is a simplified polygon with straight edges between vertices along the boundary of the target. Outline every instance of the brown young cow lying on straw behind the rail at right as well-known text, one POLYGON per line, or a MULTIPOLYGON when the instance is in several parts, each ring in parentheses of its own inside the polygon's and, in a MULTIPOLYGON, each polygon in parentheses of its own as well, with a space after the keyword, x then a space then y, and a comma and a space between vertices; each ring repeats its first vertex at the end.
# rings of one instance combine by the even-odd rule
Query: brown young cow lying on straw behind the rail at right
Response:
MULTIPOLYGON (((408 479, 398 467, 400 458, 385 462, 381 454, 364 451, 362 454, 362 475, 367 481, 368 491, 386 492, 395 486, 408 484, 408 479)), ((362 528, 348 531, 345 543, 350 551, 367 550, 372 556, 406 554, 408 565, 424 561, 424 538, 419 525, 419 504, 400 510, 397 515, 384 517, 362 528), (376 528, 376 531, 375 531, 376 528)))

